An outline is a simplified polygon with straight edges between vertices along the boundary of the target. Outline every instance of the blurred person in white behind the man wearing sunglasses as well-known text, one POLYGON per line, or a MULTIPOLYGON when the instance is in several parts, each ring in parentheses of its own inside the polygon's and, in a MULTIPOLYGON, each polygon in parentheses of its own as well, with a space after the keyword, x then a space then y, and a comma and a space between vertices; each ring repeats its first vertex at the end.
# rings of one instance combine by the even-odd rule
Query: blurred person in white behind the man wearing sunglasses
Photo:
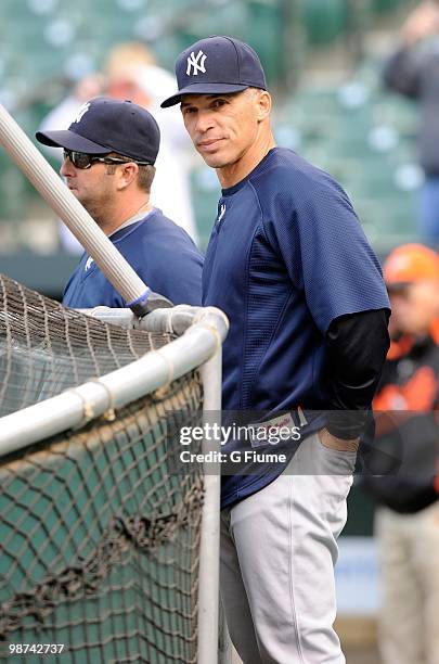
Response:
MULTIPOLYGON (((72 93, 43 118, 40 131, 66 129, 81 105, 102 93, 115 99, 128 99, 147 108, 157 120, 162 136, 152 200, 197 242, 190 190, 191 159, 185 154, 190 141, 179 112, 176 110, 167 114, 159 106, 163 94, 172 91, 173 76, 156 64, 154 55, 144 44, 135 41, 120 43, 108 52, 103 74, 93 73, 80 80, 72 93)), ((46 149, 62 161, 61 150, 46 149)), ((81 245, 64 224, 60 228, 60 239, 67 252, 82 252, 81 245)))

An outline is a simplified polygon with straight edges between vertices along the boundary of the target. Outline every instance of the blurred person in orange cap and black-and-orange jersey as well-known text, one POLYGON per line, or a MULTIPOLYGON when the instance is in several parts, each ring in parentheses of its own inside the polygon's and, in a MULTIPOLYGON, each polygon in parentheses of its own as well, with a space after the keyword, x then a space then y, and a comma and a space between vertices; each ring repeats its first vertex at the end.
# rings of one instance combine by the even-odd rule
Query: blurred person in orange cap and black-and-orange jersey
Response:
POLYGON ((379 650, 385 664, 439 664, 439 257, 400 246, 384 278, 392 344, 373 403, 377 474, 363 478, 378 503, 379 650))

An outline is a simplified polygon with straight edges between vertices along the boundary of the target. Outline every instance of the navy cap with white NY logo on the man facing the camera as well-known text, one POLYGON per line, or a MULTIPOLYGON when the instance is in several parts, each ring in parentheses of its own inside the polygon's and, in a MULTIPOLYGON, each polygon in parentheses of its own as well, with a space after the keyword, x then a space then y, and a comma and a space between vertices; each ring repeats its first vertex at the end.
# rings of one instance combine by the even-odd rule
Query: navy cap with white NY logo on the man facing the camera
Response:
POLYGON ((178 92, 160 104, 163 108, 181 102, 183 94, 267 90, 258 55, 247 43, 232 37, 214 35, 193 43, 178 56, 176 76, 178 92))

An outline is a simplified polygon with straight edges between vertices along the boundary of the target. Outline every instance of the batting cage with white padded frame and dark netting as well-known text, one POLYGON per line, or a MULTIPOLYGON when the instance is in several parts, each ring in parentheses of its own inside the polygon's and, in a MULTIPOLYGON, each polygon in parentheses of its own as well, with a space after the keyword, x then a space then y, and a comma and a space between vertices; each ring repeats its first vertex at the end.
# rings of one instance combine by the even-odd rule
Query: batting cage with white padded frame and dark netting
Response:
MULTIPOLYGON (((3 563, 7 562, 12 576, 7 575, 10 584, 9 587, 2 584, 0 598, 0 625, 5 639, 18 642, 27 635, 26 640, 30 641, 31 635, 33 641, 48 640, 44 625, 50 625, 55 616, 60 629, 52 629, 52 641, 56 634, 61 642, 69 634, 78 640, 78 634, 83 633, 79 638, 82 644, 72 644, 69 651, 60 655, 62 662, 99 661, 96 654, 102 652, 105 653, 102 661, 215 662, 219 475, 203 477, 203 471, 195 471, 191 476, 173 476, 170 482, 164 470, 166 463, 172 462, 165 458, 164 422, 168 433, 169 427, 182 422, 196 423, 190 411, 202 396, 193 371, 199 365, 205 413, 219 411, 220 341, 227 333, 225 317, 217 310, 188 307, 157 310, 140 321, 143 329, 150 330, 146 334, 127 329, 135 324, 130 311, 106 311, 107 318, 114 320, 116 316, 122 323, 115 327, 63 309, 37 294, 33 294, 37 297, 33 299, 30 292, 20 284, 7 282, 3 280, 1 286, 3 290, 7 286, 10 296, 2 303, 0 323, 3 345, 10 344, 14 353, 12 358, 2 357, 2 362, 3 373, 7 362, 7 371, 14 370, 17 375, 12 394, 22 398, 18 407, 27 406, 29 394, 38 394, 38 387, 44 387, 46 392, 40 390, 38 395, 43 398, 50 395, 50 390, 57 391, 66 384, 68 387, 68 380, 76 385, 82 378, 86 360, 94 376, 105 372, 107 365, 112 368, 112 362, 126 366, 1 420, 2 486, 7 487, 3 507, 8 505, 4 502, 8 486, 9 494, 13 491, 15 497, 15 505, 9 503, 13 512, 8 510, 7 518, 2 518, 7 536, 2 537, 3 552, 9 557, 3 563), (28 330, 22 337, 14 297, 26 303, 21 314, 30 334, 28 330), (48 333, 48 325, 53 325, 56 334, 48 333), (60 325, 70 346, 64 355, 60 325), (169 334, 176 331, 183 334, 164 346, 162 333, 168 334, 165 341, 169 342, 169 334), (80 344, 76 346, 81 336, 82 348, 80 344), (106 357, 105 362, 99 344, 104 336, 112 349, 107 353, 111 359, 106 357), (145 336, 155 349, 143 355, 145 336), (129 348, 125 356, 122 348, 129 348), (55 352, 57 361, 49 361, 48 357, 55 352), (93 362, 88 353, 95 356, 93 362), (76 375, 66 371, 72 354, 76 354, 76 375), (139 355, 141 358, 134 359, 139 355), (26 356, 33 358, 27 374, 21 366, 26 356), (27 384, 23 378, 26 375, 27 384), (48 386, 50 375, 55 380, 48 386), (152 392, 153 396, 144 396, 152 392), (60 434, 66 430, 67 433, 60 434), (56 527, 53 510, 48 507, 53 478, 63 489, 60 491, 59 486, 55 512, 64 527, 56 527), (104 505, 99 507, 100 500, 104 505), (41 513, 39 525, 35 524, 35 514, 29 514, 29 507, 41 513), (92 534, 88 529, 90 523, 92 534), (11 536, 14 529, 15 537, 11 536), (77 552, 75 564, 65 552, 68 547, 77 552), (199 560, 194 549, 199 552, 199 560), (15 560, 22 561, 15 567, 14 554, 15 560), (44 569, 43 559, 51 561, 49 570, 44 569), (180 564, 182 560, 188 561, 184 570, 179 569, 184 567, 180 564), (23 578, 17 586, 21 570, 23 578), (38 582, 34 586, 27 583, 29 574, 38 582), (142 578, 149 583, 142 585, 142 578), (104 590, 111 586, 106 596, 101 582, 104 590), (93 613, 105 611, 111 617, 100 624, 93 613), (20 633, 24 624, 33 625, 34 631, 20 633), (124 629, 127 634, 120 636, 124 629)), ((31 656, 40 661, 37 655, 31 656)), ((14 661, 20 661, 17 655, 14 661)), ((23 661, 33 659, 27 655, 23 661)))

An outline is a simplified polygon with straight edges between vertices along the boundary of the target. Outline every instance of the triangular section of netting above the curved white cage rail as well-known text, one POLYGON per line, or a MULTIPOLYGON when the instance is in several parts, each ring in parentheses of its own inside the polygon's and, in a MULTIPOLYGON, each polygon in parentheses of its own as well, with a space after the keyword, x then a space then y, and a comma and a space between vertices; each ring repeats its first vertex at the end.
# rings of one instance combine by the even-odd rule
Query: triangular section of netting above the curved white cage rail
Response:
POLYGON ((0 274, 0 417, 124 367, 171 341, 66 309, 0 274))

